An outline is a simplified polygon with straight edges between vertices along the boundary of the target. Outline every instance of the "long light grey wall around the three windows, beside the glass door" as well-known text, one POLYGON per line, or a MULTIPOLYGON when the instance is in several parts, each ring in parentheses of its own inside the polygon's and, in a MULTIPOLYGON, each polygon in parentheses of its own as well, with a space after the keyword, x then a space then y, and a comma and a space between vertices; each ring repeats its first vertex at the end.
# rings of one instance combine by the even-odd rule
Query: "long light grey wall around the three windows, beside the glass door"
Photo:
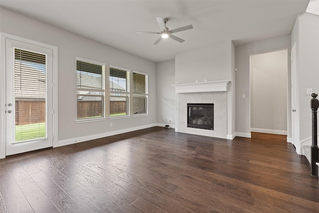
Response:
MULTIPOLYGON (((58 47, 58 140, 156 123, 156 63, 0 8, 1 31, 58 47), (76 62, 81 57, 149 74, 149 116, 90 123, 77 118, 76 62)), ((106 67, 107 69, 108 67, 106 67)), ((107 102, 108 103, 108 102, 107 102)))

